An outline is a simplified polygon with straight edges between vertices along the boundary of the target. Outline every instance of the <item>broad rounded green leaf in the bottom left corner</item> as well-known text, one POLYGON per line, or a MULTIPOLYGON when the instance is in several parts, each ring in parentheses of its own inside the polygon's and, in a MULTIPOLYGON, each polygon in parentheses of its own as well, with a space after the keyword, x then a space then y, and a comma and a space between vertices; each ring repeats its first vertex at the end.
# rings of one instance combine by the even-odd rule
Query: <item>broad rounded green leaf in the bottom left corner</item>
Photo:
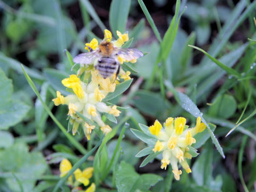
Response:
MULTIPOLYGON (((43 155, 38 152, 29 153, 28 146, 24 143, 15 143, 0 151, 0 172, 13 173, 24 191, 33 191, 36 178, 39 178, 46 168, 43 155)), ((13 175, 5 181, 11 191, 20 191, 20 185, 13 175)))

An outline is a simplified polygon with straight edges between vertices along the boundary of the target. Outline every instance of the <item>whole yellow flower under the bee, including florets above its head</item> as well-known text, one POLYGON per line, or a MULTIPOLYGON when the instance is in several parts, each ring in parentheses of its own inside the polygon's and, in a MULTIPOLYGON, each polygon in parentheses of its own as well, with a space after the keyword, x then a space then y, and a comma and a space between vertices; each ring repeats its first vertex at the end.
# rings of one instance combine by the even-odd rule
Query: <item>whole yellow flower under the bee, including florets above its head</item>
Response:
MULTIPOLYGON (((116 33, 119 38, 116 41, 111 42, 112 34, 106 29, 103 41, 108 41, 113 43, 116 47, 121 47, 129 40, 127 33, 121 34, 119 31, 116 31, 116 33)), ((93 38, 90 43, 85 44, 85 49, 89 51, 96 50, 98 49, 98 45, 99 43, 97 39, 93 38)), ((122 60, 122 62, 123 61, 124 60, 122 60)), ((121 68, 119 74, 124 81, 131 79, 130 71, 125 72, 121 68)), ((70 75, 68 78, 62 80, 62 84, 68 88, 68 91, 72 90, 74 94, 69 94, 64 97, 59 91, 57 91, 57 98, 53 99, 53 101, 56 106, 68 106, 68 115, 70 118, 69 122, 73 126, 73 135, 77 133, 78 127, 81 125, 87 140, 90 140, 90 134, 95 128, 95 126, 90 125, 89 122, 83 121, 83 119, 77 115, 77 112, 97 123, 103 133, 108 133, 111 131, 111 127, 102 121, 101 113, 108 113, 117 117, 121 111, 119 111, 115 105, 107 106, 105 102, 102 102, 102 100, 107 96, 108 93, 115 91, 116 84, 119 83, 118 80, 119 78, 115 75, 105 79, 102 78, 98 74, 98 71, 95 70, 91 65, 81 65, 80 69, 77 71, 77 75, 70 75), (83 73, 83 79, 85 79, 85 81, 81 81, 79 78, 79 76, 81 76, 83 73)))

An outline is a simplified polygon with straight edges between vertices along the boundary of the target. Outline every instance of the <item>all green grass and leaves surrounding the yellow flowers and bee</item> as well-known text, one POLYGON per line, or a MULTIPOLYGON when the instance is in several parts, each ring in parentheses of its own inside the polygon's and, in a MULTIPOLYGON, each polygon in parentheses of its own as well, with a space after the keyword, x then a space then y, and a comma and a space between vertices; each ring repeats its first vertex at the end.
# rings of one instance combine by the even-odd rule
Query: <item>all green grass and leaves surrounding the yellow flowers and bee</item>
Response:
POLYGON ((0 191, 70 191, 69 175, 89 166, 99 192, 254 190, 255 7, 246 0, 0 1, 0 191), (127 31, 123 47, 144 56, 121 65, 132 79, 102 100, 122 112, 101 113, 110 133, 76 113, 95 126, 87 141, 82 125, 70 134, 68 106, 52 99, 74 93, 61 81, 77 73, 73 58, 92 38, 100 43, 105 29, 115 39, 116 30, 127 31), (190 127, 199 116, 207 128, 188 147, 192 172, 179 167, 176 181, 171 164, 160 169, 149 126, 180 116, 190 127), (60 178, 63 158, 74 166, 60 178))

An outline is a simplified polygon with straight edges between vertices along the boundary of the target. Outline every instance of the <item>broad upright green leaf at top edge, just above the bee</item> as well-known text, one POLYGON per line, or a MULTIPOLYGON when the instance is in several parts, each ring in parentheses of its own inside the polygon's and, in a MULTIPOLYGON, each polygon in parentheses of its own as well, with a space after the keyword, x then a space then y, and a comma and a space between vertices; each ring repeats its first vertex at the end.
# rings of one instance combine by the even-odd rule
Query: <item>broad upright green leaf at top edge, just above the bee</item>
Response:
MULTIPOLYGON (((131 6, 131 0, 112 0, 109 10, 109 25, 116 36, 116 31, 125 32, 125 26, 131 6)), ((117 37, 117 36, 116 36, 117 37)))

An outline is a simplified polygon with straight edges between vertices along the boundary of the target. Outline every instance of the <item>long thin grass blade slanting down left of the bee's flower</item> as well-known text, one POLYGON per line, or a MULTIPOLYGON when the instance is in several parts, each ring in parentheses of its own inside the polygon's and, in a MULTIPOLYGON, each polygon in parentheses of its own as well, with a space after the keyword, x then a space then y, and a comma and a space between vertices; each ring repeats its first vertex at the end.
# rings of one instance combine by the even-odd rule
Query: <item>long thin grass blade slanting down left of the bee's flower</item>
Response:
POLYGON ((52 114, 52 111, 49 109, 49 107, 46 105, 46 103, 43 101, 43 99, 41 98, 41 95, 39 94, 38 90, 36 89, 35 84, 33 83, 33 81, 31 80, 31 78, 28 76, 28 74, 26 73, 25 69, 23 68, 23 66, 21 65, 21 68, 23 70, 23 73, 28 81, 28 84, 30 85, 30 87, 33 89, 33 91, 36 93, 38 99, 42 102, 42 105, 44 107, 44 109, 47 111, 47 113, 49 114, 49 116, 52 118, 52 120, 58 125, 58 127, 60 128, 60 130, 65 134, 65 136, 68 138, 68 140, 77 148, 77 150, 79 150, 82 154, 86 154, 87 151, 84 149, 84 147, 77 141, 75 140, 74 137, 72 137, 67 130, 65 129, 65 127, 63 127, 63 125, 58 121, 58 119, 52 114))

